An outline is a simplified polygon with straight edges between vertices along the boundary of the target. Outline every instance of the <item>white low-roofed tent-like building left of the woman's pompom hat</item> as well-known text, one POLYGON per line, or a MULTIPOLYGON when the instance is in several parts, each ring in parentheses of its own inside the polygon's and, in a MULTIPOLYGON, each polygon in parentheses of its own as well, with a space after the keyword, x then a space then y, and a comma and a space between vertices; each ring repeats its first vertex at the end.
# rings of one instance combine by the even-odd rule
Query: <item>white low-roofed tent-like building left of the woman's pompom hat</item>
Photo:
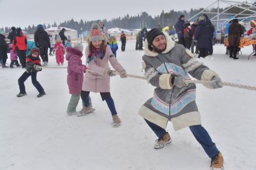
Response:
POLYGON ((77 31, 75 29, 70 29, 66 27, 50 27, 45 29, 45 31, 47 31, 48 33, 51 33, 52 37, 55 38, 58 35, 58 32, 60 32, 62 28, 66 29, 65 35, 70 40, 74 40, 78 38, 77 31))

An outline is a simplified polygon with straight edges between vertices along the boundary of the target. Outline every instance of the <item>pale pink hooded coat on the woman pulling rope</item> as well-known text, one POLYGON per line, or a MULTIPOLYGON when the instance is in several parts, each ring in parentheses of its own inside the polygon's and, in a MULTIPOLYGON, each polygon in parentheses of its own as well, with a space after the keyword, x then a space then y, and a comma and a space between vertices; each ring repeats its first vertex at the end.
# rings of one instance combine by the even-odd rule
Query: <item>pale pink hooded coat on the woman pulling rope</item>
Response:
MULTIPOLYGON (((87 46, 86 59, 88 59, 89 53, 89 46, 87 46)), ((107 45, 104 58, 101 59, 93 56, 93 60, 87 65, 87 68, 91 70, 92 73, 87 71, 84 75, 83 91, 91 91, 95 93, 110 92, 110 77, 104 75, 105 70, 110 70, 108 61, 117 72, 125 70, 122 65, 119 64, 110 47, 107 45)))

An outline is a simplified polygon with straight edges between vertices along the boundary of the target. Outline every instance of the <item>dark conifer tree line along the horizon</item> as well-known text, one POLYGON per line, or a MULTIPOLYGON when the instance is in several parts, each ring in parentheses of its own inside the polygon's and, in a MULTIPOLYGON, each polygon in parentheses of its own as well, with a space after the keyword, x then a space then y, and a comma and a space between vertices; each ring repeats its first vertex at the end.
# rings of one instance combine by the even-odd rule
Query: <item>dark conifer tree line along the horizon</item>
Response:
MULTIPOLYGON (((256 2, 254 3, 256 5, 256 2)), ((229 7, 226 8, 220 8, 219 12, 221 13, 223 10, 226 10, 229 7)), ((199 8, 199 9, 193 9, 191 8, 190 11, 174 11, 174 10, 170 10, 170 11, 162 11, 161 14, 152 17, 151 15, 149 15, 148 13, 146 13, 145 11, 142 12, 141 14, 137 14, 136 16, 130 16, 129 14, 126 14, 123 17, 117 17, 111 20, 107 20, 104 19, 102 20, 105 24, 105 26, 107 28, 114 28, 114 27, 118 27, 118 28, 123 28, 123 29, 134 29, 134 28, 157 28, 158 25, 160 25, 161 27, 168 25, 169 23, 172 23, 172 25, 175 24, 175 22, 178 20, 178 17, 180 17, 181 14, 184 14, 184 16, 186 17, 186 19, 189 19, 190 17, 194 16, 195 14, 198 14, 200 11, 204 10, 204 8, 199 8)), ((237 8, 237 7, 233 7, 231 9, 229 9, 228 11, 226 11, 226 13, 240 13, 243 10, 241 8, 237 8)), ((217 12, 217 8, 211 8, 211 10, 208 10, 207 12, 213 13, 213 12, 217 12)), ((250 14, 250 11, 246 11, 243 14, 250 14)), ((209 16, 209 18, 213 17, 214 14, 207 14, 209 16)), ((231 17, 232 15, 225 15, 225 16, 220 16, 220 19, 222 19, 223 17, 231 17)), ((239 17, 239 16, 237 16, 239 17)), ((64 22, 61 22, 59 24, 57 24, 56 22, 54 22, 52 25, 50 25, 48 23, 48 25, 46 25, 45 23, 43 24, 43 27, 49 28, 52 26, 63 26, 63 27, 67 27, 67 28, 71 28, 71 29, 75 29, 76 31, 78 31, 78 33, 80 33, 81 31, 86 31, 86 30, 90 30, 90 27, 92 26, 93 22, 98 23, 100 20, 83 20, 81 19, 79 22, 74 20, 74 19, 70 19, 70 20, 65 20, 64 22)), ((10 27, 5 27, 5 28, 1 28, 3 31, 5 32, 10 32, 10 27)), ((28 34, 34 34, 34 32, 37 29, 37 25, 32 25, 32 26, 28 26, 23 28, 24 31, 27 31, 28 34)))

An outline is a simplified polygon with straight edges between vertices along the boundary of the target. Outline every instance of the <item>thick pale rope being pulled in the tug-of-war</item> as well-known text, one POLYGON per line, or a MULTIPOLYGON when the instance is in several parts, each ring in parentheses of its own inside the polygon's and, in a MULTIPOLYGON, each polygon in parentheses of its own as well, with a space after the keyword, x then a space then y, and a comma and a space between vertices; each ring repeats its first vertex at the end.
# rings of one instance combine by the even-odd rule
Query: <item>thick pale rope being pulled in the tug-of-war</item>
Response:
MULTIPOLYGON (((43 67, 43 68, 67 68, 67 67, 43 67)), ((87 70, 91 73, 93 73, 93 71, 91 70, 87 70)), ((119 74, 119 73, 117 73, 119 74)), ((137 76, 135 74, 127 74, 128 77, 133 77, 136 79, 143 79, 146 80, 146 78, 144 76, 137 76)), ((205 80, 186 80, 187 83, 210 83, 211 81, 205 81, 205 80)), ((222 82, 223 86, 228 86, 228 87, 235 87, 235 88, 242 88, 242 89, 246 89, 246 90, 254 90, 256 91, 256 87, 252 87, 249 85, 242 85, 242 84, 237 84, 237 83, 229 83, 229 82, 222 82)))

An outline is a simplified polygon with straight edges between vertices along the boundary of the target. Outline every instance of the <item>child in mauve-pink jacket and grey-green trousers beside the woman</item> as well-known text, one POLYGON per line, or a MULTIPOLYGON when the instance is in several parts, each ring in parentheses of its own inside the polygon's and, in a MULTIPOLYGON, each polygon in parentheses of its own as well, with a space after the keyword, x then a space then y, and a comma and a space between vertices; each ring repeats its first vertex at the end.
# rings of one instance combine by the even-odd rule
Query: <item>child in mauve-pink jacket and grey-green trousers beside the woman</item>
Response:
POLYGON ((67 105, 67 115, 78 114, 78 112, 76 112, 76 106, 78 105, 82 91, 83 73, 86 73, 87 69, 86 65, 82 64, 81 59, 83 56, 83 48, 83 44, 78 42, 76 42, 73 47, 67 47, 67 86, 71 94, 69 105, 67 105))

